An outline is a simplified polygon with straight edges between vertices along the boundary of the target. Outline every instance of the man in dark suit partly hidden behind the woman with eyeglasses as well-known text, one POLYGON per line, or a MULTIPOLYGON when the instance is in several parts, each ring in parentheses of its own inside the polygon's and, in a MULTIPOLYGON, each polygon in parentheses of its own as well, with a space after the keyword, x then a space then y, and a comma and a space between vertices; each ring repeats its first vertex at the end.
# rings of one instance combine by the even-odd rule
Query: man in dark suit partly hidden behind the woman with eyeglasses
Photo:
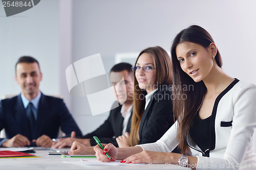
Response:
POLYGON ((83 145, 86 148, 83 150, 83 154, 93 154, 93 148, 90 147, 97 144, 93 136, 97 136, 103 143, 111 142, 118 147, 115 137, 128 134, 125 132, 130 133, 131 128, 131 114, 133 109, 133 73, 131 67, 132 65, 129 63, 119 63, 114 65, 110 72, 110 82, 113 92, 116 94, 118 103, 122 105, 115 108, 117 106, 117 103, 115 103, 113 105, 114 109, 110 111, 108 119, 92 133, 79 136, 78 138, 75 138, 73 136, 75 134, 73 133, 69 138, 59 139, 58 142, 52 145, 52 148, 71 147, 74 141, 78 141, 82 143, 81 146, 83 145))

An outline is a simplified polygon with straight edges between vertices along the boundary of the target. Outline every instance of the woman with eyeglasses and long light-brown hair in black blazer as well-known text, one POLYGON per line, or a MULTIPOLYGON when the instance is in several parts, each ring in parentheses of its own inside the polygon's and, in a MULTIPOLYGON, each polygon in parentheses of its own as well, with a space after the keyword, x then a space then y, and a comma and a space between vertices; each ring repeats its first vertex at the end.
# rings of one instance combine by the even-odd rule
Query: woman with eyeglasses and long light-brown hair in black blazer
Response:
POLYGON ((174 124, 172 63, 166 51, 160 46, 146 48, 132 69, 135 79, 131 133, 116 138, 119 147, 155 142, 174 124))

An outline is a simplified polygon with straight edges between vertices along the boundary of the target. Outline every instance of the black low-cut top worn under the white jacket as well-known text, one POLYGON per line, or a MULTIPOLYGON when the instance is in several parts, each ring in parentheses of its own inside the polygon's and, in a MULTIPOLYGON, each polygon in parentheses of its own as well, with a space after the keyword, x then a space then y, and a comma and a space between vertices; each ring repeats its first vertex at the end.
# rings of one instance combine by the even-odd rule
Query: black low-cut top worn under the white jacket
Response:
POLYGON ((189 135, 197 143, 198 147, 205 152, 210 146, 210 117, 201 119, 197 112, 194 123, 190 127, 189 135))

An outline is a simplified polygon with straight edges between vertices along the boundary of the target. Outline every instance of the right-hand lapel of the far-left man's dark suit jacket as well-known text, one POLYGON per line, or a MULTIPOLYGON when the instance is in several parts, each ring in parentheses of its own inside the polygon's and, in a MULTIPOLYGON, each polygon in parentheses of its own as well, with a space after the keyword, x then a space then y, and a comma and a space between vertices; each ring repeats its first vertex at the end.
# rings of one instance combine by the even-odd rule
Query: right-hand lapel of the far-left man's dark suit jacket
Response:
POLYGON ((41 93, 41 98, 39 100, 39 105, 37 109, 37 120, 36 120, 36 128, 35 128, 35 138, 40 137, 42 134, 42 130, 44 126, 47 124, 48 114, 50 113, 50 105, 49 101, 46 100, 46 96, 41 93))

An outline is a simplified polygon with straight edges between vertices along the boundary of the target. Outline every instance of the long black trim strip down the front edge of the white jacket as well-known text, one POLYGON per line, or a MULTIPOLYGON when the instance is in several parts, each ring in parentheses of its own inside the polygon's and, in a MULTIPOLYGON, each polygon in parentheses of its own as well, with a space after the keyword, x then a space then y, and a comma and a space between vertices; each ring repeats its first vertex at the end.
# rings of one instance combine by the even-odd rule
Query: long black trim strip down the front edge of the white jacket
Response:
POLYGON ((223 90, 218 97, 215 100, 214 103, 214 109, 212 109, 212 113, 211 113, 211 118, 210 118, 210 146, 209 146, 209 151, 212 151, 215 149, 215 144, 216 144, 216 134, 215 134, 215 118, 216 118, 216 114, 217 114, 217 108, 218 108, 218 104, 221 100, 221 98, 237 83, 239 82, 238 79, 235 78, 235 80, 229 84, 229 86, 223 90))

